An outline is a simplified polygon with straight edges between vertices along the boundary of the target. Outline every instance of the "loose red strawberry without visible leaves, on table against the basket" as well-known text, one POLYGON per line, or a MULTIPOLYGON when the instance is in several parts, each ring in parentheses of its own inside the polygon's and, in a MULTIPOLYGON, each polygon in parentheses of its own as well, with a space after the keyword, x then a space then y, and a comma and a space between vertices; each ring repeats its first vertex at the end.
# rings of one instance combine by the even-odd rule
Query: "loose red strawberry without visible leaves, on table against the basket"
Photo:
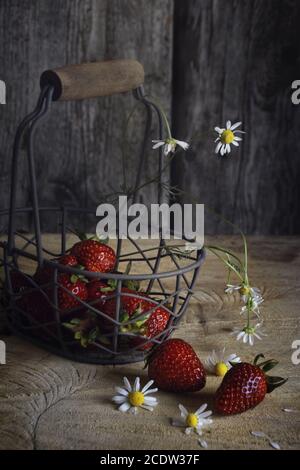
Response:
POLYGON ((182 339, 169 339, 154 350, 148 358, 148 376, 169 392, 197 392, 206 383, 200 359, 182 339))

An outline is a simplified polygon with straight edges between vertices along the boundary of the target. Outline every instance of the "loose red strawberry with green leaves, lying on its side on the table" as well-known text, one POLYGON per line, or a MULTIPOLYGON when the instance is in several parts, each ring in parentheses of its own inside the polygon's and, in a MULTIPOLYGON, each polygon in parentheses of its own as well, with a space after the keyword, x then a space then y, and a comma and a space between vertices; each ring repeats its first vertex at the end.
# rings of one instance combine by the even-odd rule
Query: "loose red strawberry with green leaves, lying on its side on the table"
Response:
POLYGON ((231 415, 242 413, 258 405, 267 393, 283 385, 287 379, 270 377, 266 372, 278 362, 271 359, 258 364, 259 354, 253 364, 241 362, 232 366, 215 395, 215 410, 218 413, 231 415))

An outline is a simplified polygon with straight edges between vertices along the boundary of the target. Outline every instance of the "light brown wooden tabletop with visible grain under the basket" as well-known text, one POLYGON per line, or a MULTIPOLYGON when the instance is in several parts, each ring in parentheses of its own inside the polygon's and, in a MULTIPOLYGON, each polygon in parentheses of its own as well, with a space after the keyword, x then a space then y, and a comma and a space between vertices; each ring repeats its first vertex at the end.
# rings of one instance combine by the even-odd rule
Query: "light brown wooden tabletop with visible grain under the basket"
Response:
MULTIPOLYGON (((237 237, 217 242, 241 250, 237 237)), ((216 238, 214 242, 216 243, 216 238)), ((250 275, 265 297, 263 313, 268 336, 254 347, 229 333, 239 326, 239 295, 224 294, 225 270, 208 255, 198 280, 196 297, 176 336, 189 341, 201 358, 226 346, 243 359, 256 353, 280 360, 278 374, 288 383, 253 410, 232 417, 214 416, 206 434, 210 449, 269 449, 268 441, 252 436, 263 431, 282 449, 300 448, 300 365, 291 361, 292 342, 300 339, 300 239, 249 240, 250 275), (293 413, 283 411, 293 409, 293 413)), ((220 379, 208 377, 194 394, 159 392, 159 406, 137 416, 122 414, 111 403, 114 386, 124 375, 146 380, 143 364, 93 366, 56 357, 14 336, 7 343, 7 365, 0 366, 1 449, 200 449, 197 437, 170 425, 178 403, 196 409, 212 403, 220 379)))

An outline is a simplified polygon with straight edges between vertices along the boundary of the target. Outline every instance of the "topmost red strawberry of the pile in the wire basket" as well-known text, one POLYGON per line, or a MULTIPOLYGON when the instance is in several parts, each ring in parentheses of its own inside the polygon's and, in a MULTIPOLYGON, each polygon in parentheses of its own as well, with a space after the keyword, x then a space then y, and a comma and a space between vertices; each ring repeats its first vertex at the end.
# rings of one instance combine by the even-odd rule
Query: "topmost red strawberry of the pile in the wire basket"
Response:
POLYGON ((107 273, 113 270, 116 263, 114 250, 97 240, 82 240, 76 243, 71 254, 87 271, 107 273))

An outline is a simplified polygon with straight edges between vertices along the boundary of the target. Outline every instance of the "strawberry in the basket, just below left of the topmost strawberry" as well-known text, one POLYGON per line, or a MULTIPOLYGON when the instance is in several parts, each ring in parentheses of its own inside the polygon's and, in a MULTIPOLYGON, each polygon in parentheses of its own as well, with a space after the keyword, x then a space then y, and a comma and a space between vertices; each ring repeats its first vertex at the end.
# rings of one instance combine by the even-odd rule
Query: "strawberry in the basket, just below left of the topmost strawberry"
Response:
POLYGON ((88 291, 86 283, 79 279, 76 275, 69 275, 67 273, 59 274, 58 283, 58 305, 60 310, 70 310, 80 304, 78 299, 87 300, 88 291), (67 291, 71 292, 76 298, 71 296, 67 291))

